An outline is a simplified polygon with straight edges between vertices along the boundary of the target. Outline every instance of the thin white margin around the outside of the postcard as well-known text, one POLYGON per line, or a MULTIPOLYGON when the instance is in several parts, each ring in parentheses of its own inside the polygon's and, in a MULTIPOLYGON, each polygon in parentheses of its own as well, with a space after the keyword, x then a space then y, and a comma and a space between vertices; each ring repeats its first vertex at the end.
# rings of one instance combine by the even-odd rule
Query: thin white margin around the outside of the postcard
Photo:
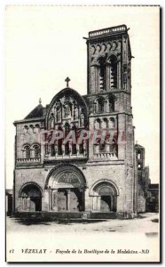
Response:
MULTIPOLYGON (((1 151, 1 160, 0 160, 0 170, 1 170, 1 201, 0 201, 0 210, 1 210, 1 220, 0 220, 0 237, 1 237, 1 249, 0 249, 0 263, 1 266, 4 266, 4 252, 5 252, 5 247, 4 247, 4 9, 5 9, 5 5, 106 5, 106 4, 112 4, 112 5, 161 5, 161 8, 163 9, 164 7, 164 1, 160 0, 160 1, 156 1, 156 0, 131 0, 131 1, 127 1, 125 0, 123 2, 123 0, 118 1, 118 0, 95 0, 95 1, 91 1, 91 0, 1 0, 0 1, 0 122, 1 122, 1 126, 3 125, 3 127, 1 127, 1 132, 0 132, 0 136, 1 136, 1 142, 0 142, 0 151, 1 151)), ((142 6, 143 8, 143 6, 142 6)), ((163 12, 163 10, 161 11, 163 12)), ((164 26, 164 22, 162 25, 162 30, 164 26)), ((163 36, 162 36, 163 37, 163 36)), ((163 42, 163 40, 162 40, 163 42)), ((164 59, 162 59, 161 64, 163 64, 164 59)), ((163 73, 163 72, 162 72, 163 73)), ((165 95, 165 94, 164 94, 165 95)), ((163 96, 163 95, 162 95, 163 96)), ((164 97, 163 97, 164 100, 164 97)), ((164 114, 164 109, 163 109, 163 114, 164 114)), ((164 120, 163 120, 164 122, 164 120)), ((163 129, 162 129, 163 130, 163 129)), ((163 134, 162 134, 163 136, 163 134)), ((163 145, 163 149, 164 149, 164 145, 163 145)), ((165 159, 162 162, 162 166, 165 165, 165 159)), ((163 175, 162 175, 163 176, 163 175)), ((161 177, 161 179, 163 180, 163 177, 161 177)), ((164 247, 164 246, 163 246, 164 247)), ((162 250, 162 255, 163 255, 163 250, 162 250)), ((14 265, 18 265, 21 266, 22 264, 14 264, 14 265)), ((35 265, 35 264, 31 264, 31 265, 35 265)), ((43 264, 43 265, 47 265, 47 264, 43 264)), ((59 264, 56 264, 59 265, 59 264)), ((61 265, 61 264, 60 264, 61 265)), ((59 266, 60 266, 59 265, 59 266)), ((90 264, 85 264, 86 266, 90 265, 90 264)), ((114 264, 113 264, 114 265, 114 264)), ((145 266, 145 264, 140 264, 141 266, 145 266)), ((147 264, 148 265, 148 264, 147 264)), ((149 264, 150 265, 150 264, 149 264)), ((156 264, 157 265, 157 264, 156 264)))

